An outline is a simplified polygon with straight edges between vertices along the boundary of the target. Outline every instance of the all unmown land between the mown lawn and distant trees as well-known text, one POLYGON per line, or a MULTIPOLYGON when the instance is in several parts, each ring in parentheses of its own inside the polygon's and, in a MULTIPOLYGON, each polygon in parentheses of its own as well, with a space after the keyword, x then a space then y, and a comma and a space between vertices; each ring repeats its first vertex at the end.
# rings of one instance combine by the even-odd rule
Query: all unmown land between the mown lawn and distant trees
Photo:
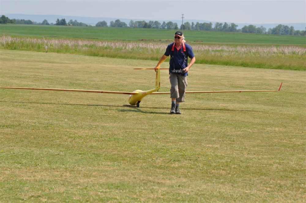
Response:
MULTIPOLYGON (((197 64, 306 70, 305 36, 184 33, 197 64)), ((1 25, 0 34, 0 49, 157 61, 173 42, 174 30, 1 25)))

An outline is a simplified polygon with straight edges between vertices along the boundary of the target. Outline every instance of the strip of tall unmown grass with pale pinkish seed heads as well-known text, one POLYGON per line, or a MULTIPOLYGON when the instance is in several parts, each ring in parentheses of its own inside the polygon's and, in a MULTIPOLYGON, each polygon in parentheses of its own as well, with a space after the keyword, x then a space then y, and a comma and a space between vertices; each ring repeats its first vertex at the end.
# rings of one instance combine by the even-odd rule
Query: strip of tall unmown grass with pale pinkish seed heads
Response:
MULTIPOLYGON (((236 33, 237 34, 237 33, 236 33)), ((159 60, 170 42, 97 41, 68 38, 0 37, 0 48, 159 60), (45 48, 47 46, 47 49, 45 48)), ((189 43, 189 42, 188 42, 189 43)), ((196 63, 253 68, 306 70, 306 48, 296 45, 192 44, 196 63)), ((169 59, 168 59, 169 61, 169 59)))

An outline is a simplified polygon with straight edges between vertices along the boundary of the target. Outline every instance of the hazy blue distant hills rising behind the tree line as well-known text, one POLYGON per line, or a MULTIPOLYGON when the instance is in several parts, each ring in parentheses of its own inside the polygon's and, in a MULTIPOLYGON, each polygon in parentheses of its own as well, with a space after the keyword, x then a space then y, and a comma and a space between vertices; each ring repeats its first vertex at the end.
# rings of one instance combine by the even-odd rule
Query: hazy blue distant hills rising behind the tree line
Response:
MULTIPOLYGON (((27 15, 27 14, 5 14, 6 17, 9 17, 10 19, 25 19, 25 20, 32 20, 35 22, 42 22, 43 20, 48 20, 49 23, 54 23, 55 21, 59 18, 65 18, 66 21, 69 20, 77 20, 78 22, 82 22, 88 25, 93 25, 95 26, 95 24, 99 21, 103 21, 105 20, 107 22, 107 25, 110 24, 110 21, 115 21, 117 19, 121 20, 122 22, 125 22, 126 24, 129 24, 130 20, 134 20, 134 21, 138 21, 138 20, 145 20, 146 22, 148 22, 149 20, 154 20, 155 19, 123 19, 123 18, 107 18, 107 17, 82 17, 82 16, 61 16, 61 15, 27 15)), ((174 23, 177 23, 178 25, 181 25, 182 21, 181 20, 157 20, 160 23, 162 23, 163 21, 168 22, 168 21, 172 21, 174 23)), ((190 20, 190 19, 186 19, 184 20, 184 22, 189 22, 191 24, 191 22, 199 22, 199 23, 209 23, 211 22, 212 24, 215 24, 217 21, 209 21, 209 20, 190 20)), ((220 23, 224 23, 221 21, 218 21, 220 23)), ((235 23, 236 25, 238 25, 238 29, 244 27, 245 25, 250 25, 252 23, 237 23, 237 22, 227 22, 227 23, 235 23)), ((295 30, 305 30, 306 27, 306 23, 271 23, 271 24, 252 24, 255 25, 256 27, 260 27, 263 26, 267 29, 269 28, 274 28, 276 27, 278 24, 282 24, 282 25, 287 25, 287 26, 293 26, 295 30)))

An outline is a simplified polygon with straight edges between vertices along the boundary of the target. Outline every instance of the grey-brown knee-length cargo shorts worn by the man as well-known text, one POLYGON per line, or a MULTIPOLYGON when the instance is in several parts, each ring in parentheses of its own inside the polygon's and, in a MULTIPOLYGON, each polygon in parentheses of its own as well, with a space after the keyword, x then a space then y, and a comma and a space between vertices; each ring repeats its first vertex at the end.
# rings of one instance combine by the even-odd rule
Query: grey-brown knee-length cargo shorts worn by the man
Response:
POLYGON ((177 102, 185 101, 185 91, 188 85, 187 77, 179 74, 170 73, 170 97, 176 98, 177 102))

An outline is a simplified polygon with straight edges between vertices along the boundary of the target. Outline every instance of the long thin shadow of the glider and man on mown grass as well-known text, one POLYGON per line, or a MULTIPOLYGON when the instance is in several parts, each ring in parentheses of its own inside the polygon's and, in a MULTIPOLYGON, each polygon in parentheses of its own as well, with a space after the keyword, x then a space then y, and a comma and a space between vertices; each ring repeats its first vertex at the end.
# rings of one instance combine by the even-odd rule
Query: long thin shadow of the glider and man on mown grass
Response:
MULTIPOLYGON (((152 112, 142 111, 141 109, 167 109, 170 111, 170 107, 136 107, 132 105, 98 105, 98 104, 61 104, 61 103, 46 103, 46 102, 25 102, 25 101, 0 101, 0 103, 23 103, 23 104, 53 104, 53 105, 80 105, 80 106, 108 106, 108 107, 129 107, 132 109, 120 109, 121 112, 139 112, 139 113, 155 113, 155 114, 170 114, 165 112, 152 112)), ((184 108, 183 108, 184 109, 184 108)), ((247 112, 259 112, 254 110, 241 110, 241 109, 199 109, 199 108, 186 108, 186 110, 206 110, 206 111, 247 111, 247 112)))

